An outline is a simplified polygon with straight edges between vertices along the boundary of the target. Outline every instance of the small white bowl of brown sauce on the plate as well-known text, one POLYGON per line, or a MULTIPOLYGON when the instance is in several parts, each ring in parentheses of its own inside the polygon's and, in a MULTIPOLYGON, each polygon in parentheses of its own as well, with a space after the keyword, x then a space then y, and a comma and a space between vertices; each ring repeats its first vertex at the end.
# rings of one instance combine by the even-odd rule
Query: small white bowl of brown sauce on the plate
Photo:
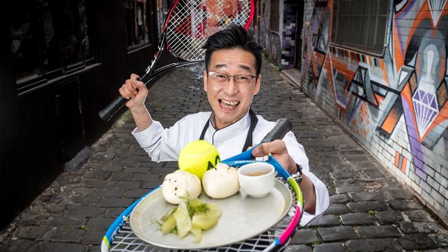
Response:
POLYGON ((264 197, 275 184, 275 169, 267 162, 254 162, 238 169, 241 190, 254 198, 264 197), (259 175, 259 173, 263 173, 259 175))

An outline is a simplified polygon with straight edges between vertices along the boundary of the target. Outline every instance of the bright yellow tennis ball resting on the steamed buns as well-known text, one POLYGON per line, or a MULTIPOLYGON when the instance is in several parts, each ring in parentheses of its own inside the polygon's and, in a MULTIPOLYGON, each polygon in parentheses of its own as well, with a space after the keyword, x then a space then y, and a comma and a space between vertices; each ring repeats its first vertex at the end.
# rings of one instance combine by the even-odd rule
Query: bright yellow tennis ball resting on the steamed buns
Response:
POLYGON ((205 140, 197 140, 183 147, 179 155, 179 169, 188 171, 202 180, 205 171, 220 161, 216 147, 205 140))

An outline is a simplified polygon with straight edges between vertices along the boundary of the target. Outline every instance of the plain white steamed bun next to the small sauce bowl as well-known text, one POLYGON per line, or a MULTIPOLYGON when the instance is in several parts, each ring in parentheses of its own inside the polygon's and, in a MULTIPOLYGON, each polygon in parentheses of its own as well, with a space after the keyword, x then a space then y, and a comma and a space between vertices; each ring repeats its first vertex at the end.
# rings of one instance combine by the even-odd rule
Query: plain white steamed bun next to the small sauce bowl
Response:
POLYGON ((205 172, 202 178, 205 193, 211 198, 227 198, 238 192, 238 172, 222 162, 205 172))

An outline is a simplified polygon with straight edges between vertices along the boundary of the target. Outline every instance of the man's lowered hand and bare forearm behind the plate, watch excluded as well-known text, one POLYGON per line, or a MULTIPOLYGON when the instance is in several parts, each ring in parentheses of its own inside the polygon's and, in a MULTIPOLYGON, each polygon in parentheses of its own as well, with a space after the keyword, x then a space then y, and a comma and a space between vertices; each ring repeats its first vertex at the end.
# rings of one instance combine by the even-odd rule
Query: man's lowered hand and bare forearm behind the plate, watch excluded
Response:
MULTIPOLYGON (((283 140, 262 143, 252 151, 254 157, 266 156, 269 153, 272 154, 285 169, 287 169, 289 174, 295 174, 297 172, 296 162, 289 156, 283 140)), ((314 191, 313 182, 311 182, 305 174, 303 174, 303 180, 300 187, 303 193, 303 200, 305 201, 303 208, 307 213, 314 214, 316 212, 316 191, 314 191)))

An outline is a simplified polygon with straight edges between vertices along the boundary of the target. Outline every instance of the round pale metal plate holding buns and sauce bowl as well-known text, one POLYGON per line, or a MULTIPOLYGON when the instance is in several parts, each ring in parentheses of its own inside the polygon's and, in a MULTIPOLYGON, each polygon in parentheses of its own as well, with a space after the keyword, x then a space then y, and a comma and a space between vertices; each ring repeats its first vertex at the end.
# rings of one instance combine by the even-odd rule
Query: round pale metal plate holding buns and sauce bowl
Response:
POLYGON ((201 242, 193 242, 189 233, 178 238, 174 233, 163 235, 154 220, 160 220, 165 213, 176 207, 165 201, 162 189, 150 193, 139 202, 130 216, 130 226, 141 240, 170 249, 206 249, 225 246, 252 238, 267 231, 279 222, 292 205, 292 195, 285 184, 276 180, 274 189, 263 198, 252 198, 238 192, 225 199, 213 199, 201 193, 203 202, 218 204, 223 211, 218 223, 212 229, 202 232, 201 242))

